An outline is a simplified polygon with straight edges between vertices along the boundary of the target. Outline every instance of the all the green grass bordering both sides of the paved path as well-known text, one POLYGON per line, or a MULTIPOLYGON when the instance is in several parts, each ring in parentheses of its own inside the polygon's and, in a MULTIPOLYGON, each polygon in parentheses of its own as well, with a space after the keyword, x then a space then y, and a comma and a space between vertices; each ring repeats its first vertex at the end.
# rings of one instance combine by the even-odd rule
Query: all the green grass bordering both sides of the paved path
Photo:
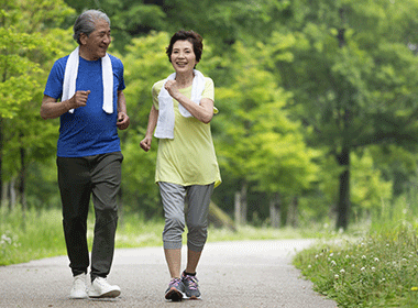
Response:
MULTIPOLYGON (((90 248, 92 217, 88 222, 90 248)), ((246 226, 237 232, 210 228, 208 241, 321 239, 294 260, 315 290, 333 298, 339 307, 418 307, 418 223, 404 219, 395 224, 387 217, 385 222, 386 227, 378 220, 356 226, 350 233, 336 232, 327 224, 278 230, 246 226)), ((123 215, 117 248, 161 246, 163 228, 162 219, 123 215)), ((30 210, 23 216, 19 208, 0 209, 0 265, 56 255, 66 255, 61 210, 30 210)))

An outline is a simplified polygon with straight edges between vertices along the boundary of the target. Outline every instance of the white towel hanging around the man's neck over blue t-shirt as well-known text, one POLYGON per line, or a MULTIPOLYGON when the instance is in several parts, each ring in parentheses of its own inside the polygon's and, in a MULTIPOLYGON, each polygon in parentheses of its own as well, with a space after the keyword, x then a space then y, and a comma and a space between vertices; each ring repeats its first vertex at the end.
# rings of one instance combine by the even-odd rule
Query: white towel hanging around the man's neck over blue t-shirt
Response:
MULTIPOLYGON (((79 46, 69 54, 67 65, 65 66, 62 100, 70 99, 76 92, 78 64, 79 46)), ((106 113, 113 113, 113 70, 108 54, 101 58, 101 75, 103 80, 103 110, 106 113)), ((70 109, 68 112, 73 113, 74 109, 70 109)))

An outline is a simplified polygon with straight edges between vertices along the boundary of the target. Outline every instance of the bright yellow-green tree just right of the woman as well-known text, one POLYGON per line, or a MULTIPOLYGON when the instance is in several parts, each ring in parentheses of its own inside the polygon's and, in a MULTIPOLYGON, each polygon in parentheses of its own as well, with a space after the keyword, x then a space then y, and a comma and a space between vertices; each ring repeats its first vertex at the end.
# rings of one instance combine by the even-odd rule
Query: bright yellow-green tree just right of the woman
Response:
POLYGON ((290 121, 285 110, 292 96, 277 87, 266 69, 272 54, 289 56, 280 50, 284 45, 251 47, 237 42, 230 84, 218 89, 218 154, 228 175, 240 183, 238 205, 243 209, 243 223, 249 190, 285 199, 298 196, 315 179, 315 152, 306 146, 299 124, 290 121))

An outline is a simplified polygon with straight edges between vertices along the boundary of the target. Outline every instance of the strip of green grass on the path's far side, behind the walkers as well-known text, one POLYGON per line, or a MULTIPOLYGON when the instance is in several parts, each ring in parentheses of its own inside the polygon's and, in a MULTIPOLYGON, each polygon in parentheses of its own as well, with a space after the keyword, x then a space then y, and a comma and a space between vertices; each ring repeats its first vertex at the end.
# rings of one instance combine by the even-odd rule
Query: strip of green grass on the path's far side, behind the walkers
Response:
MULTIPOLYGON (((43 257, 66 255, 62 212, 58 209, 29 210, 24 215, 16 208, 0 208, 0 265, 29 262, 43 257)), ((119 220, 116 246, 161 246, 163 219, 148 220, 127 213, 119 220)), ((94 215, 89 215, 88 242, 91 250, 94 215)), ((241 227, 237 232, 209 228, 209 242, 235 240, 295 239, 308 233, 295 229, 241 227)), ((310 234, 316 237, 316 233, 310 234)), ((184 237, 186 243, 186 237, 184 237)))

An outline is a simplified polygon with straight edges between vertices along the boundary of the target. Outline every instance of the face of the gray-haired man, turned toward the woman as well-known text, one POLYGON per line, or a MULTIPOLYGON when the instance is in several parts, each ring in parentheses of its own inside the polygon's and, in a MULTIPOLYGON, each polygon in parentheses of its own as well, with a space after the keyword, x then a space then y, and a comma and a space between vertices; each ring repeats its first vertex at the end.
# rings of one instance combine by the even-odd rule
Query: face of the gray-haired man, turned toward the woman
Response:
POLYGON ((97 20, 95 24, 96 30, 89 36, 84 33, 80 36, 80 42, 89 55, 89 61, 96 61, 106 56, 112 41, 110 37, 110 26, 106 21, 97 20))

